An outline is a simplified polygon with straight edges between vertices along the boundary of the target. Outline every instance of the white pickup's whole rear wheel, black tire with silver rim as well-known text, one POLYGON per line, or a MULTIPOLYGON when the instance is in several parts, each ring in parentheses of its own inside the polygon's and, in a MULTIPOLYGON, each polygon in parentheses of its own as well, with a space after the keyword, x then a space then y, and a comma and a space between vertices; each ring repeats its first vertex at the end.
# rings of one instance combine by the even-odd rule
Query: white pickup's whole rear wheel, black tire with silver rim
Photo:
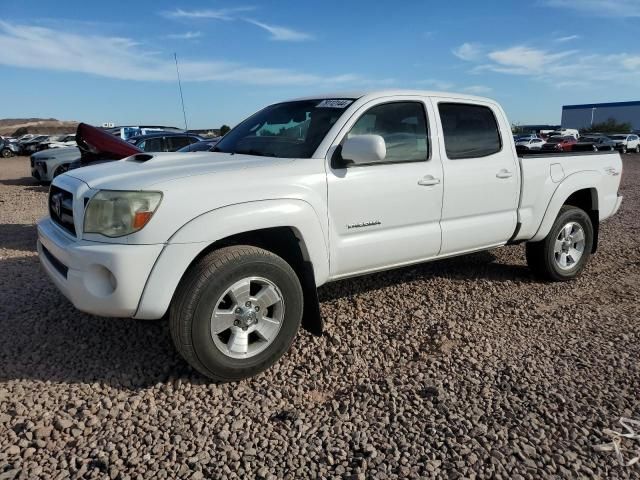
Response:
POLYGON ((539 242, 526 244, 527 264, 537 276, 546 280, 554 282, 572 280, 584 270, 591 256, 592 246, 593 224, 589 215, 578 207, 564 205, 549 234, 539 242), (573 243, 567 238, 568 230, 565 229, 569 225, 572 226, 571 237, 573 240, 579 239, 579 232, 582 231, 582 242, 573 243), (562 238, 566 240, 562 240, 562 238), (560 243, 557 243, 556 240, 560 243), (560 251, 558 252, 558 250, 560 251), (562 265, 563 258, 564 266, 562 265))

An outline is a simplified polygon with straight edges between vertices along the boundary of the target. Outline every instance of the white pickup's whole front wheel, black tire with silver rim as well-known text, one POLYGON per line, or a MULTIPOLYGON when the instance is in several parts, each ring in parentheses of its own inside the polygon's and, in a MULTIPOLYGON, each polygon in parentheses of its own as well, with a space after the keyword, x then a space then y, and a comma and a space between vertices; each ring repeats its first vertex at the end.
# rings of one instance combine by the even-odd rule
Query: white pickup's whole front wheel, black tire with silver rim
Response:
POLYGON ((241 245, 210 252, 187 270, 172 301, 169 324, 176 349, 193 368, 229 382, 252 377, 278 361, 298 332, 302 311, 302 287, 291 266, 267 250, 241 245), (249 287, 243 283, 247 281, 249 287), (263 297, 263 291, 269 296, 263 297), (216 320, 218 315, 225 320, 216 320), (263 336, 265 332, 270 335, 263 336))

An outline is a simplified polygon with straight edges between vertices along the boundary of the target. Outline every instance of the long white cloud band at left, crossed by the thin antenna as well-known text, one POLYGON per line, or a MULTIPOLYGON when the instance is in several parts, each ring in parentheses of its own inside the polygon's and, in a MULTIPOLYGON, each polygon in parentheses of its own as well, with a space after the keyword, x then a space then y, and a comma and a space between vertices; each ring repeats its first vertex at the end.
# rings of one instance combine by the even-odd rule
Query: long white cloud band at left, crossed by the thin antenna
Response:
MULTIPOLYGON (((0 21, 0 64, 78 72, 122 80, 175 81, 175 63, 145 51, 128 38, 78 35, 0 21)), ((180 62, 183 81, 229 81, 253 85, 341 86, 366 83, 354 74, 321 76, 287 68, 263 68, 221 60, 180 62)))

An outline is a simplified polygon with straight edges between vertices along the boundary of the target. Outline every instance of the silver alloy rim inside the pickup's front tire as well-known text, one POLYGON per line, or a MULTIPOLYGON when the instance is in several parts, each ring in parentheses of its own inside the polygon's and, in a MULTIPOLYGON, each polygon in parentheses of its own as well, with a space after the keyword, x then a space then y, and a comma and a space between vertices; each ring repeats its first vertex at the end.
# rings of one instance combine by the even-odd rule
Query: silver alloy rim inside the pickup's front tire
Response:
POLYGON ((218 299, 211 314, 211 338, 224 355, 246 359, 273 343, 284 320, 280 289, 264 277, 238 280, 218 299))

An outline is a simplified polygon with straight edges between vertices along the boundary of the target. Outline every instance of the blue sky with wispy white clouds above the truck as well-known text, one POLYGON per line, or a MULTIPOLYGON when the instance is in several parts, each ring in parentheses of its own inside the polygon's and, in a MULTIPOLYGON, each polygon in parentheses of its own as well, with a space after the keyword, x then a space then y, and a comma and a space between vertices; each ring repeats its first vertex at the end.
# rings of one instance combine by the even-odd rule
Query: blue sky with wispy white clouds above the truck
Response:
POLYGON ((0 117, 234 125, 271 102, 376 88, 499 100, 512 122, 640 100, 640 0, 0 0, 0 117))

